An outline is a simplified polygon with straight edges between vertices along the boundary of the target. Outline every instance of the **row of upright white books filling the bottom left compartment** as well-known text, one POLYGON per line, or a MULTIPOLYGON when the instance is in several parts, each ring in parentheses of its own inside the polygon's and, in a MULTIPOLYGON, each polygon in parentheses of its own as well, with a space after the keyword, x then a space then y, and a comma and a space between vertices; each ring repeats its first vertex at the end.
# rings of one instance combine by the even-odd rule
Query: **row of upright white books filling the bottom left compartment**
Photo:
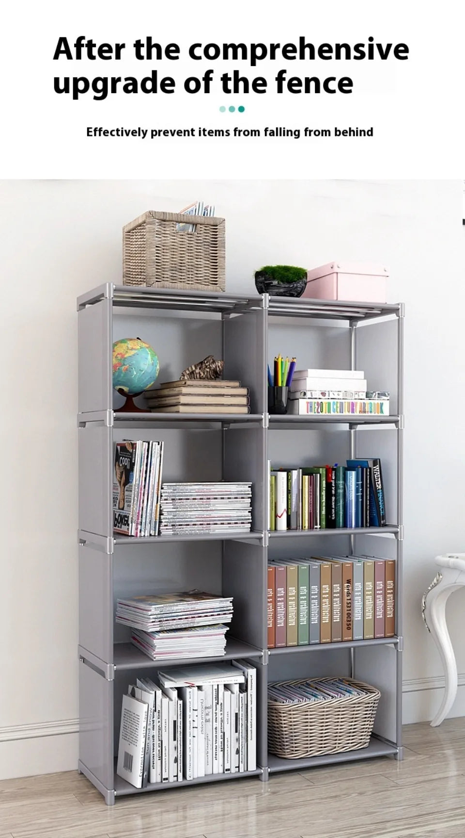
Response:
POLYGON ((257 670, 197 665, 137 679, 123 696, 116 772, 141 789, 254 771, 257 670))

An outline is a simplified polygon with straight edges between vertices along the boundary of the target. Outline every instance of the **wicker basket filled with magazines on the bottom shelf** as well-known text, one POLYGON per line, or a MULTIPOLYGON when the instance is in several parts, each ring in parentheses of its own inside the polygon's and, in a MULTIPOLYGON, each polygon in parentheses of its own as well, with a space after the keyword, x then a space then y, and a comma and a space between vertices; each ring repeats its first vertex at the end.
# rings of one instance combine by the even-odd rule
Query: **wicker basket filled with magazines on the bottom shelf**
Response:
MULTIPOLYGON (((270 753, 286 759, 299 759, 367 747, 381 693, 360 681, 345 680, 362 689, 365 695, 328 701, 301 701, 299 704, 268 701, 270 753)), ((282 683, 295 685, 302 681, 282 683)))

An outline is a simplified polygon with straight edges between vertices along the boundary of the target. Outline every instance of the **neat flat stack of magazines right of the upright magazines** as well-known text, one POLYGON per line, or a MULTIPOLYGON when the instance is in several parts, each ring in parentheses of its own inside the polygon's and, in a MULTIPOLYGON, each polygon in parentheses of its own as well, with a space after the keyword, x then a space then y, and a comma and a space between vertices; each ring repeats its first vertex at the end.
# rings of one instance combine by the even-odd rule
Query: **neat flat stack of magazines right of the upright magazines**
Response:
POLYGON ((161 535, 250 532, 250 483, 165 483, 161 487, 161 535))

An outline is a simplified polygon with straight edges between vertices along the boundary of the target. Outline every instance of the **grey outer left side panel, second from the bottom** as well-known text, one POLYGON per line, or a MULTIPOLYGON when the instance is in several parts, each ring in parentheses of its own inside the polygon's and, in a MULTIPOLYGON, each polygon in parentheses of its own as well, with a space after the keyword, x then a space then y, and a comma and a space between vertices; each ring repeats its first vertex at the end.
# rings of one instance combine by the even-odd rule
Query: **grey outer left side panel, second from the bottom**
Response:
POLYGON ((113 662, 113 555, 82 544, 79 545, 79 645, 100 660, 113 662))

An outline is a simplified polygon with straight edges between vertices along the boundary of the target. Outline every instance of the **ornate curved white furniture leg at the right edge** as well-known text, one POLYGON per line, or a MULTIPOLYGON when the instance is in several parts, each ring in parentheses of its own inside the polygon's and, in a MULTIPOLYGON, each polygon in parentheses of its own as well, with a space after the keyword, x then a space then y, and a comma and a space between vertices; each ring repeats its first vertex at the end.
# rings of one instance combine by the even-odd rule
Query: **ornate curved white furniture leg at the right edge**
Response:
POLYGON ((446 603, 451 593, 462 587, 462 582, 457 584, 457 577, 460 576, 461 573, 457 570, 444 568, 442 573, 437 574, 432 586, 423 597, 423 616, 441 655, 446 680, 441 706, 431 722, 432 727, 441 724, 457 695, 457 664, 447 630, 446 603))

